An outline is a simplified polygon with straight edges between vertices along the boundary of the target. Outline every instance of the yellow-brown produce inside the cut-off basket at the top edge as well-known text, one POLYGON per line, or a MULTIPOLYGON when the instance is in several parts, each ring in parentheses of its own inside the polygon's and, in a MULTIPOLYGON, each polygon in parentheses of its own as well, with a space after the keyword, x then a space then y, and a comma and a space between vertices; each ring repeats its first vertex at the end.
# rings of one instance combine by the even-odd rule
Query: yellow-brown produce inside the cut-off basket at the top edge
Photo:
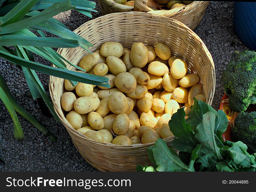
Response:
MULTIPOLYGON (((127 1, 127 0, 114 0, 119 4, 124 4, 127 6, 134 7, 134 0, 127 1)), ((147 6, 152 8, 153 10, 170 10, 177 7, 186 6, 193 1, 166 1, 166 0, 148 0, 147 6)))

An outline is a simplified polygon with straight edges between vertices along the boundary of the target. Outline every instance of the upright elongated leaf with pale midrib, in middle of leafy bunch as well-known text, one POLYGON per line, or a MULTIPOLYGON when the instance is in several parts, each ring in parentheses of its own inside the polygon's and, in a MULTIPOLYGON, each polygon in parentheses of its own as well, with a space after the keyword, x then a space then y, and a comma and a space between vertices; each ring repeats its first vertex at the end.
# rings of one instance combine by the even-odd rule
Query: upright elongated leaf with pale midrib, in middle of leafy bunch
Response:
POLYGON ((215 141, 215 114, 207 112, 203 115, 202 122, 196 127, 195 138, 200 144, 205 147, 207 154, 216 154, 218 159, 221 159, 220 148, 217 146, 215 141))

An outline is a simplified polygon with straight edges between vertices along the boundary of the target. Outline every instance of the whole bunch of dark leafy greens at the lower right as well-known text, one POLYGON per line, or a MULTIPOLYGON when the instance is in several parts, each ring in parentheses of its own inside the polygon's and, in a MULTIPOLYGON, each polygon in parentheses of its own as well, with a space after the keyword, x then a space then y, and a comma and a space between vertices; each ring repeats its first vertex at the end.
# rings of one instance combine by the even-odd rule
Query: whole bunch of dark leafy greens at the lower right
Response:
POLYGON ((249 154, 241 142, 224 142, 221 135, 228 120, 222 110, 194 98, 194 105, 185 120, 184 109, 173 114, 170 131, 176 136, 172 147, 158 139, 147 149, 153 167, 137 166, 136 171, 255 171, 256 153, 249 154))

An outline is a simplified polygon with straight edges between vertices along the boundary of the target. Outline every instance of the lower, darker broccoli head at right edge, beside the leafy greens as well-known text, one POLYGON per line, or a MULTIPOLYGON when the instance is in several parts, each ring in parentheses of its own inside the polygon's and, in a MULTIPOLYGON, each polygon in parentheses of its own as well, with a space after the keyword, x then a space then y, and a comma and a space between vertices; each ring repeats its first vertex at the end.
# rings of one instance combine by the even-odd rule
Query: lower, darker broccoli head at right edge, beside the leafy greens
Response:
POLYGON ((256 111, 241 112, 237 115, 231 138, 234 142, 241 141, 246 144, 248 153, 256 153, 256 111))

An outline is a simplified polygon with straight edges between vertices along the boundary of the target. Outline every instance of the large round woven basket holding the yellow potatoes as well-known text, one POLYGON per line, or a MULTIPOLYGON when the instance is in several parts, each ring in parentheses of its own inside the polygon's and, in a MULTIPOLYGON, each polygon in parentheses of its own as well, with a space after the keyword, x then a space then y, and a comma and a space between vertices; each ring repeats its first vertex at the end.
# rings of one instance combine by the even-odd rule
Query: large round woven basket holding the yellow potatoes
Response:
MULTIPOLYGON (((184 59, 189 65, 189 73, 197 73, 200 77, 206 102, 212 103, 215 90, 214 62, 202 40, 186 25, 177 20, 160 15, 126 12, 113 13, 90 20, 75 33, 89 40, 99 49, 106 41, 120 42, 124 47, 131 48, 136 42, 154 45, 163 42, 170 47, 173 56, 184 59)), ((61 48, 58 53, 73 64, 78 64, 87 51, 81 47, 61 48)), ((68 65, 68 69, 74 67, 68 65)), ((102 171, 134 171, 136 165, 150 164, 146 149, 151 144, 136 144, 133 146, 107 145, 90 140, 72 128, 61 108, 61 96, 64 92, 64 80, 50 77, 49 89, 54 109, 67 129, 79 153, 92 166, 102 171)), ((174 137, 166 138, 168 146, 174 137)))

